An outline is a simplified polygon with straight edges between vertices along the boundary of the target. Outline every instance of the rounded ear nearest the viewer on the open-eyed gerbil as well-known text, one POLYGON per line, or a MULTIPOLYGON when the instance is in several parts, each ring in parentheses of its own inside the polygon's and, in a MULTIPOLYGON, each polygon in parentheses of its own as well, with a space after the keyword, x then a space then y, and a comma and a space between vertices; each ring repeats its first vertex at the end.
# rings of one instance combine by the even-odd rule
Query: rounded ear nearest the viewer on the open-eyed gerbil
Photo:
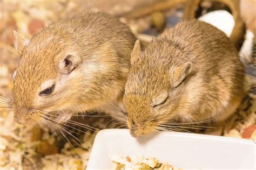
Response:
POLYGON ((82 62, 80 57, 74 53, 66 53, 57 58, 58 68, 61 74, 71 73, 82 62))

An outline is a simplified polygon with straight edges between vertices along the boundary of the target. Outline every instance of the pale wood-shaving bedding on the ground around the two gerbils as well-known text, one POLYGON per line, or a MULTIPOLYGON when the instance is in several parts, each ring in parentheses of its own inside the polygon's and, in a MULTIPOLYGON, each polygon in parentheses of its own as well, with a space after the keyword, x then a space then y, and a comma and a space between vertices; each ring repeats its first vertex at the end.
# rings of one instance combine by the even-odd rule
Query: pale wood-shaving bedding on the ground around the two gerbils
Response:
MULTIPOLYGON (((58 18, 64 18, 95 8, 109 13, 130 10, 136 1, 124 1, 122 5, 106 6, 103 1, 4 1, 1 9, 0 26, 0 94, 11 95, 12 80, 19 55, 14 48, 12 31, 30 38, 38 30, 58 18), (100 4, 101 2, 101 4, 100 4), (93 4, 94 3, 94 4, 93 4), (86 4, 86 5, 84 5, 86 4), (95 5, 95 6, 93 6, 95 5), (111 7, 110 7, 111 6, 111 7), (107 11, 110 10, 110 11, 107 11)), ((113 1, 112 3, 117 3, 113 1)), ((134 23, 132 23, 133 28, 134 23)), ((138 27, 138 25, 137 25, 138 27)), ((218 134, 235 138, 256 139, 255 131, 256 101, 247 97, 241 104, 233 119, 218 134)), ((103 129, 108 118, 90 118, 86 123, 103 129), (96 121, 97 119, 97 121, 96 121)), ((82 144, 76 145, 56 137, 48 130, 33 129, 31 126, 19 125, 14 121, 11 109, 0 108, 0 167, 1 169, 85 169, 90 156, 96 132, 86 130, 77 136, 82 144)))

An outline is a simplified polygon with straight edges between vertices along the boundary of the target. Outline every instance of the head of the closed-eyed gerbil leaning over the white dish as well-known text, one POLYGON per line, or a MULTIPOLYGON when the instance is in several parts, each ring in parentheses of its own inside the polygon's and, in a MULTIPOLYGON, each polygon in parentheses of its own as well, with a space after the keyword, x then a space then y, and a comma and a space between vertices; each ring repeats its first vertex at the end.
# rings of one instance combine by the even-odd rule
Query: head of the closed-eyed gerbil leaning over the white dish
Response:
POLYGON ((191 63, 174 65, 160 58, 165 55, 161 48, 163 46, 159 45, 141 51, 139 40, 133 48, 124 95, 127 125, 133 137, 161 130, 161 125, 176 116, 185 102, 187 91, 184 87, 191 73, 191 63))

